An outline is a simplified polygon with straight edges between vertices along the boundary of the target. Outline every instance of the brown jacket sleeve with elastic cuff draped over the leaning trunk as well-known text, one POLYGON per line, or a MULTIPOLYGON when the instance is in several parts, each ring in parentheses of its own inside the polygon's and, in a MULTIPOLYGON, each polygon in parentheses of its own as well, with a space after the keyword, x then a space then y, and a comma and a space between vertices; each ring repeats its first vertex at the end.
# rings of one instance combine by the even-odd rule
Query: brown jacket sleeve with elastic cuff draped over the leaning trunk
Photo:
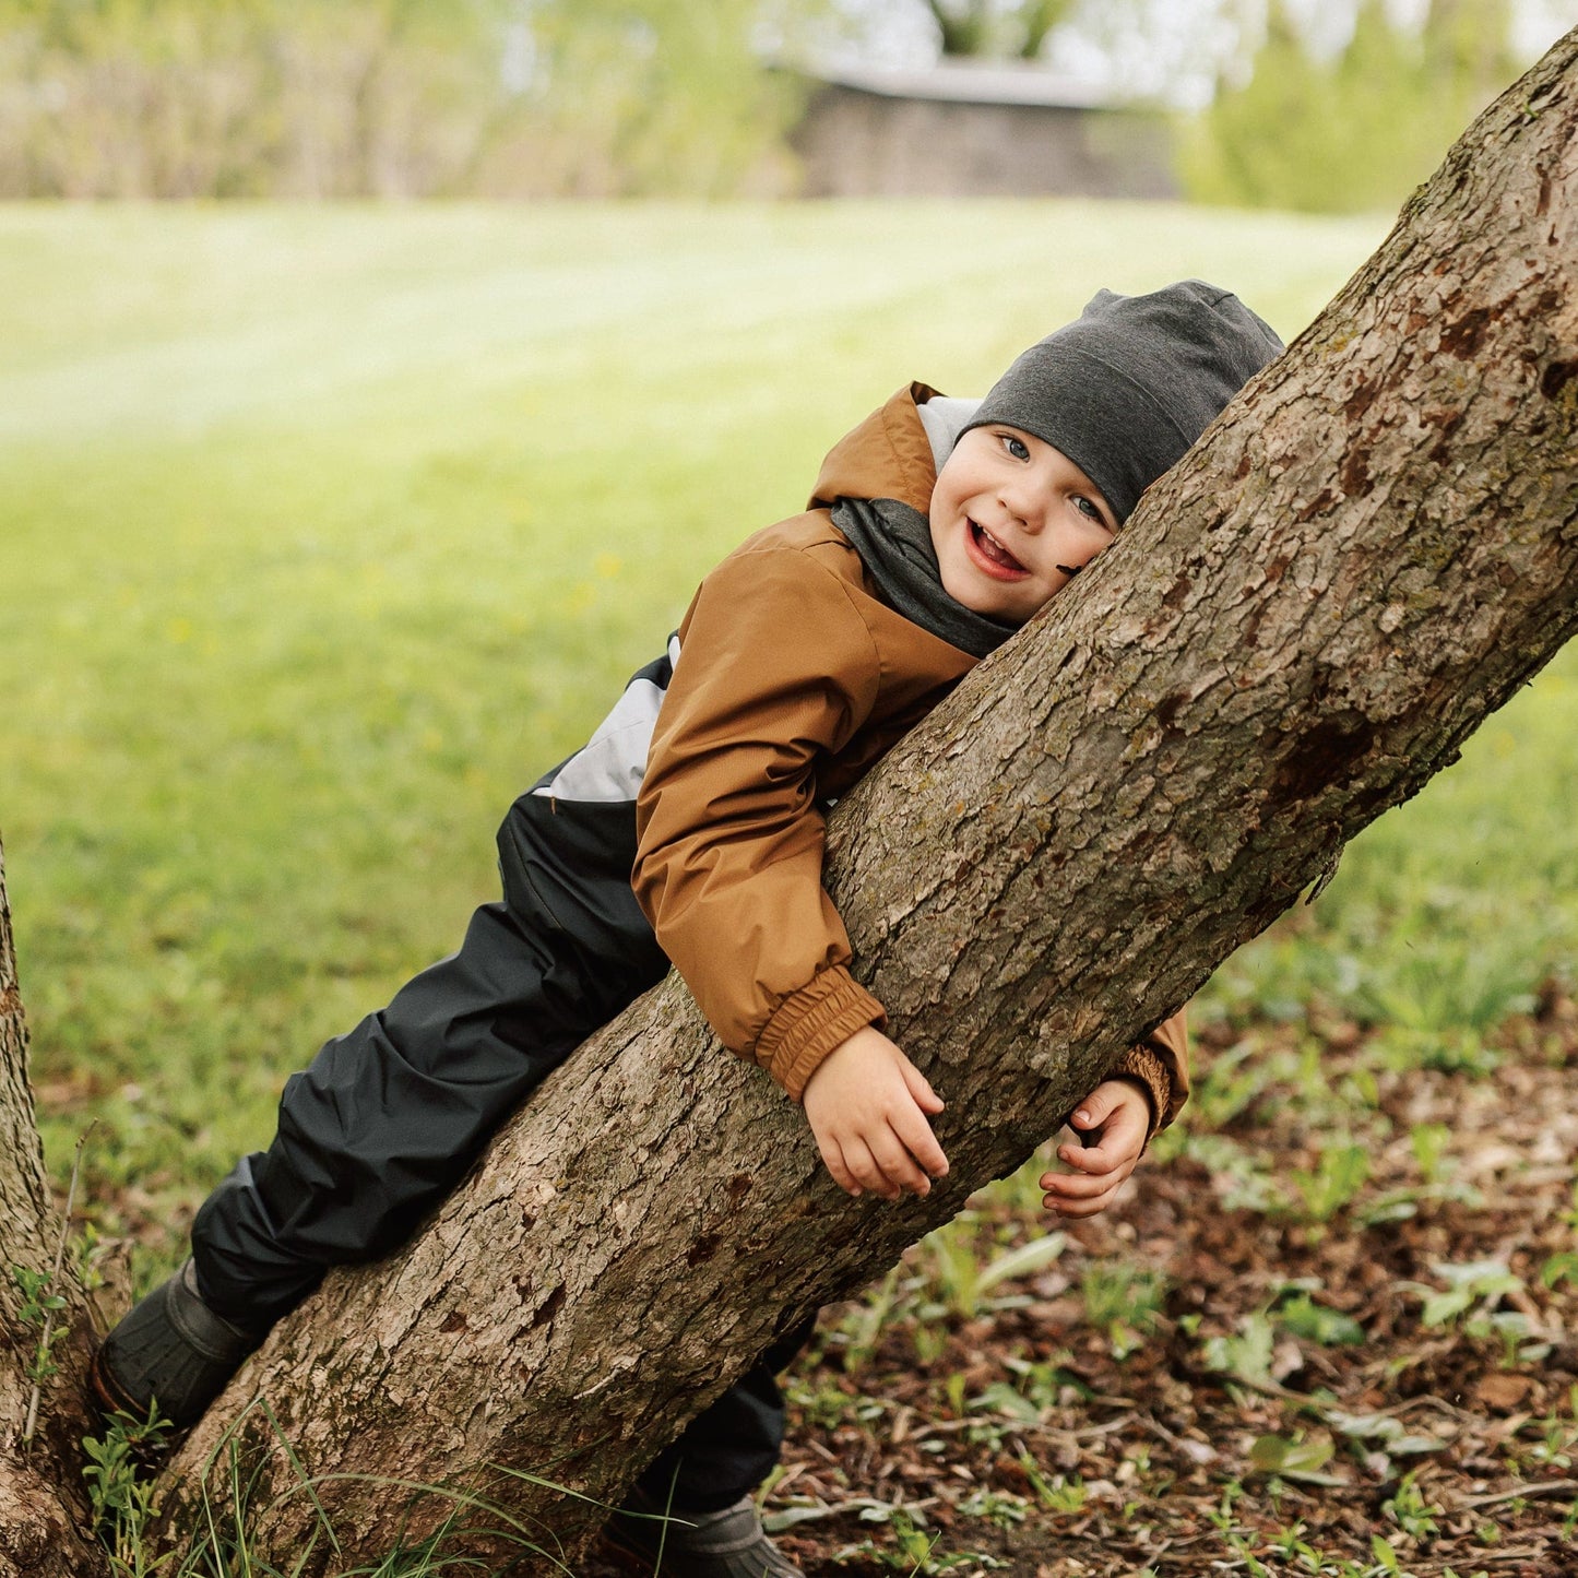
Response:
POLYGON ((881 664, 844 582, 742 549, 680 626, 636 802, 636 898, 723 1043, 798 1100, 882 1004, 822 887, 816 765, 871 715, 881 664))

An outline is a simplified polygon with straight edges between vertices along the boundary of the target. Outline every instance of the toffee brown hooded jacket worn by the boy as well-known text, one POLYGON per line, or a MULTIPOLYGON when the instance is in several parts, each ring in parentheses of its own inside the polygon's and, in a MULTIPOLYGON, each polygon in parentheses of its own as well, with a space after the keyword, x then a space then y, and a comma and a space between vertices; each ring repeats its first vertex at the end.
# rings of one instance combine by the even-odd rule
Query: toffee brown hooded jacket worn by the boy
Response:
MULTIPOLYGON (((734 1053, 795 1100, 882 1004, 849 972, 822 887, 824 817, 974 666, 896 614, 833 525, 839 497, 922 513, 936 467, 899 390, 822 464, 810 508, 759 532, 701 584, 636 800, 636 898, 734 1053)), ((1131 1049, 1154 1128, 1188 1092, 1184 1015, 1131 1049)))

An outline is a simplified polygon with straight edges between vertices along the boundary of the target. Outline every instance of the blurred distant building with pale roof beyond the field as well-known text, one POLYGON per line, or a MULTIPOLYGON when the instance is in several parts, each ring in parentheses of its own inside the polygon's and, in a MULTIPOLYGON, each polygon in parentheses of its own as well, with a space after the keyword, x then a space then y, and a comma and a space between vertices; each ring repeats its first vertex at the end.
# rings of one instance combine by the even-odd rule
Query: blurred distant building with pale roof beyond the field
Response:
POLYGON ((1018 62, 817 66, 806 197, 1176 197, 1168 122, 1018 62))

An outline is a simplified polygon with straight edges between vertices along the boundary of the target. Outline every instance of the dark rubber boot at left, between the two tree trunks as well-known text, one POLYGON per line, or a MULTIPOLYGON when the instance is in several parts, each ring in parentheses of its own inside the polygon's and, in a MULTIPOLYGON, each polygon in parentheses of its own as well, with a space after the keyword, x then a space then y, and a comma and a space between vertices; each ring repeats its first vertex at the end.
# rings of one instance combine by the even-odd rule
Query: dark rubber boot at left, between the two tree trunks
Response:
POLYGON ((197 1423, 241 1360, 264 1340, 215 1314, 197 1294, 193 1262, 161 1283, 93 1356, 93 1393, 106 1412, 159 1412, 178 1430, 197 1423))

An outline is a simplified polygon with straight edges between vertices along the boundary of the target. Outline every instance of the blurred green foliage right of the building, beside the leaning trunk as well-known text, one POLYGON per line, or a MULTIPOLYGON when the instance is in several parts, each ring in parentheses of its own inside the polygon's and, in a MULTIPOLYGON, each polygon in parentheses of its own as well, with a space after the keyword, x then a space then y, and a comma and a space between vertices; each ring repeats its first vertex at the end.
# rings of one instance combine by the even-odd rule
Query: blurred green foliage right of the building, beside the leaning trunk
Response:
POLYGON ((1321 58, 1270 0, 1248 80, 1225 82, 1185 128, 1190 197, 1253 208, 1395 208, 1520 73, 1509 0, 1430 0, 1420 27, 1360 0, 1348 44, 1321 58))

